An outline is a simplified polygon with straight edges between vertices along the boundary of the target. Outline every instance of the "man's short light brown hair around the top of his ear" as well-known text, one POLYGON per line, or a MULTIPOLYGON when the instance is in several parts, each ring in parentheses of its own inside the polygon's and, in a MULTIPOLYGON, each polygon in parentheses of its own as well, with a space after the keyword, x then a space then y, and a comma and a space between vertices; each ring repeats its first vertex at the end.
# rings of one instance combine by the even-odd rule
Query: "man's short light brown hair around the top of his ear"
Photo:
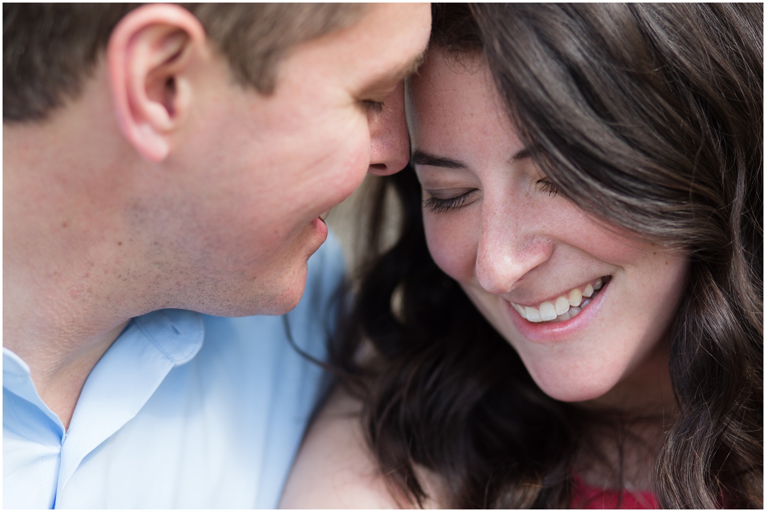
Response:
MULTIPOLYGON (((45 119, 80 94, 113 28, 140 4, 3 4, 3 121, 45 119)), ((268 94, 295 44, 346 28, 358 4, 180 4, 228 61, 235 82, 268 94)))

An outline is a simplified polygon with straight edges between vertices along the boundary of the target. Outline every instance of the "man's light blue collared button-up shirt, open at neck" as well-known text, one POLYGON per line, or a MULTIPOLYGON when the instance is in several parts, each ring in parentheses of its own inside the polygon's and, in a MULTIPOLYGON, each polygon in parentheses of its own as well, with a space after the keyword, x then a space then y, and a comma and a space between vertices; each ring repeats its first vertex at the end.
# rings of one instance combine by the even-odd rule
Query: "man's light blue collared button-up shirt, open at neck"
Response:
MULTIPOLYGON (((336 240, 286 315, 322 359, 343 274, 336 240)), ((5 508, 273 508, 326 374, 283 317, 166 309, 133 318, 83 386, 67 431, 3 348, 5 508)))

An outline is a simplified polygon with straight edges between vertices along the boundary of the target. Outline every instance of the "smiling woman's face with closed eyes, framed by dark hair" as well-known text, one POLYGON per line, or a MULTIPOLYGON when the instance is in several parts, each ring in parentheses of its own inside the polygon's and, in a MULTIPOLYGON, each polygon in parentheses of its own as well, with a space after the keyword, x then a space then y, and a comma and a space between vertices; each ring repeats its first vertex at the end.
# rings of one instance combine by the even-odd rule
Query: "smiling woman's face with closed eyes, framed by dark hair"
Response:
POLYGON ((434 261, 545 393, 594 399, 646 376, 658 354, 666 363, 660 342, 688 258, 555 194, 481 60, 431 50, 411 83, 408 123, 434 261))

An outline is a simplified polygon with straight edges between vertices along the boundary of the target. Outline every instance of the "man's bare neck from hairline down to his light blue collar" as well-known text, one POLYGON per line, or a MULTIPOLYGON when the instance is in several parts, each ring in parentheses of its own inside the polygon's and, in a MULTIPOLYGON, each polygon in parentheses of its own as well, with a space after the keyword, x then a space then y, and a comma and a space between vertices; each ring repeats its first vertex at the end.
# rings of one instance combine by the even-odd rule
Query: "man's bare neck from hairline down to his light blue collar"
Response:
POLYGON ((3 346, 65 427, 90 370, 148 311, 127 279, 140 249, 119 234, 129 173, 103 171, 123 158, 109 122, 75 107, 3 127, 3 346))

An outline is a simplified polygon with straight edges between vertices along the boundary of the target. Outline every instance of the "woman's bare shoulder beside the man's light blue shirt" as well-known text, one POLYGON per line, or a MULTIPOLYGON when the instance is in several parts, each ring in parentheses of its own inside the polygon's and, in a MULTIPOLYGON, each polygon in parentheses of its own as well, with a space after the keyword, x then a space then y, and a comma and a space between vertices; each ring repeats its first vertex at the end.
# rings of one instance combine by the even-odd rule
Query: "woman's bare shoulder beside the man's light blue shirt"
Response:
MULTIPOLYGON (((401 508, 365 445, 362 404, 340 390, 309 429, 280 508, 401 508)), ((404 505, 406 506, 406 505, 404 505)))

